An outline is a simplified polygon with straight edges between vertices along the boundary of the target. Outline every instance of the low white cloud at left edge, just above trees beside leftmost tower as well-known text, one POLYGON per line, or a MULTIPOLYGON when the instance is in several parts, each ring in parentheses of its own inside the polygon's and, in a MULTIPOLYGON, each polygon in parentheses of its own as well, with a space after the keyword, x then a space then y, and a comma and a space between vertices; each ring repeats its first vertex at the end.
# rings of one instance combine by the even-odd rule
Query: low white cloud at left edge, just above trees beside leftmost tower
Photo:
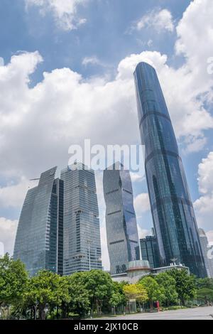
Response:
POLYGON ((0 242, 4 245, 4 253, 13 254, 17 225, 18 220, 9 220, 5 217, 0 217, 0 242))

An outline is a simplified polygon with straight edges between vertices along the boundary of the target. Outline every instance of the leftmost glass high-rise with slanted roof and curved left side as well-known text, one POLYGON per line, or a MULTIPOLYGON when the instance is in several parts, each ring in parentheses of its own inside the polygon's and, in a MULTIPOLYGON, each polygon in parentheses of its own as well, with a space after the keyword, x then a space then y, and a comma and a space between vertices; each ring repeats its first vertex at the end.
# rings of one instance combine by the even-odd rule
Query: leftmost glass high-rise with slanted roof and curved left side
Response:
POLYGON ((30 276, 41 269, 62 274, 63 182, 57 167, 41 174, 28 190, 18 222, 14 259, 21 259, 30 276))

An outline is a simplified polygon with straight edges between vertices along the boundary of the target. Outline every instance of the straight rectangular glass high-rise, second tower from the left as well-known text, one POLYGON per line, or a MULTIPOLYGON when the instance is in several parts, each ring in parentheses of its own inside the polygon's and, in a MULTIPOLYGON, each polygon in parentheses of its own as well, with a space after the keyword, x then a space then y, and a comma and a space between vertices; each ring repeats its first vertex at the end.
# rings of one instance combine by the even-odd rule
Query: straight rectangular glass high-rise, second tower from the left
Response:
POLYGON ((63 274, 102 269, 94 171, 82 163, 61 172, 64 181, 63 274))

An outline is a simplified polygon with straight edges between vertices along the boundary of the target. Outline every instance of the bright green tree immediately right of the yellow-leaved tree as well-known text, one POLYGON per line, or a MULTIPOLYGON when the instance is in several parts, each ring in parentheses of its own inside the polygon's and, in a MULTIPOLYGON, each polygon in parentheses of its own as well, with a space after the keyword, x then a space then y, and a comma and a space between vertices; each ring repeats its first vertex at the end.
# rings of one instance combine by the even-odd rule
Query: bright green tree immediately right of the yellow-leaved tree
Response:
POLYGON ((148 301, 150 302, 151 308, 153 308, 153 301, 162 301, 165 298, 163 289, 160 287, 157 281, 151 276, 143 277, 139 284, 146 289, 148 295, 148 301))

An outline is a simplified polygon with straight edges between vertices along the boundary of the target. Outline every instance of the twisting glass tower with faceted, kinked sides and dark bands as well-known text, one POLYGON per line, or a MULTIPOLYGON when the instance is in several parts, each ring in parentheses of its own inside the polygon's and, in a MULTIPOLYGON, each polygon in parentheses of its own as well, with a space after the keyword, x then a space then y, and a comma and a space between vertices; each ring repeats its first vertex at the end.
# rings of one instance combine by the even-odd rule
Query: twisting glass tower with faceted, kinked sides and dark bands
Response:
POLYGON ((130 174, 116 166, 104 170, 103 180, 111 274, 126 272, 128 262, 140 259, 130 174))

